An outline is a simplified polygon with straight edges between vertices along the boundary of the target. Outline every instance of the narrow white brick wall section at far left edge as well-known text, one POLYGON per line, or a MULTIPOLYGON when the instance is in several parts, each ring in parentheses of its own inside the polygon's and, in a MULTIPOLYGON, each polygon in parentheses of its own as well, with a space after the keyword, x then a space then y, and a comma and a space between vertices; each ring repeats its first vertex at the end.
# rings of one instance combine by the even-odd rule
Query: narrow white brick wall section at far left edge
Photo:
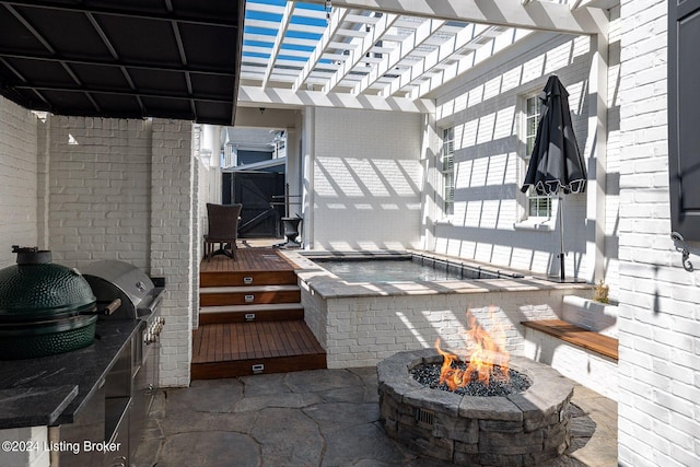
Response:
POLYGON ((15 262, 11 245, 37 245, 36 116, 0 96, 0 267, 15 262))

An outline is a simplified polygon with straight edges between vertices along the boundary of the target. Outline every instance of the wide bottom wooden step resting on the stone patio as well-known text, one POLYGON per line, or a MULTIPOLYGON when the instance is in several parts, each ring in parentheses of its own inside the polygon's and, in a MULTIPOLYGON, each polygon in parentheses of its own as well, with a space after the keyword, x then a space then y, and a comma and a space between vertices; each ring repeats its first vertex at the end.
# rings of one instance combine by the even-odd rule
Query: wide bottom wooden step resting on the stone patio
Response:
POLYGON ((192 380, 326 367, 303 320, 203 325, 192 331, 192 380))

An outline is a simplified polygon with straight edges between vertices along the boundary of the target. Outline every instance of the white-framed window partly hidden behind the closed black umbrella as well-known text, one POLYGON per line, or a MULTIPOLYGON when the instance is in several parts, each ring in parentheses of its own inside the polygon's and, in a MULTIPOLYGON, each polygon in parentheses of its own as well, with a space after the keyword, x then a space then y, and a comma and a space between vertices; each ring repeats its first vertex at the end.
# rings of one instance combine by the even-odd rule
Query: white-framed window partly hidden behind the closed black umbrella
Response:
MULTIPOLYGON (((525 179, 527 166, 535 145, 537 135, 537 124, 539 122, 540 102, 537 93, 526 94, 522 97, 522 125, 521 125, 521 148, 522 148, 522 173, 520 182, 525 179), (530 105, 536 104, 537 109, 530 113, 530 105)), ((530 187, 526 194, 522 195, 521 221, 515 223, 515 229, 551 231, 555 229, 556 219, 556 197, 550 195, 540 196, 535 194, 530 187)))

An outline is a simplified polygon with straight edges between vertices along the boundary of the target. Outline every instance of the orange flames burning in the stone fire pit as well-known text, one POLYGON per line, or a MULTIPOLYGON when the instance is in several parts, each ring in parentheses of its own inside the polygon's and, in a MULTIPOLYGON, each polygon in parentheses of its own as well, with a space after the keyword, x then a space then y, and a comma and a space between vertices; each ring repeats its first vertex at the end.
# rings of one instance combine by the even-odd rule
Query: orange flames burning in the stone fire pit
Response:
MULTIPOLYGON (((467 363, 466 370, 453 366, 453 363, 459 361, 454 353, 445 352, 440 348, 440 339, 435 341, 435 349, 442 354, 442 367, 440 370, 440 384, 446 384, 450 390, 465 387, 474 380, 480 381, 488 386, 491 378, 498 378, 508 383, 508 364, 510 360, 509 353, 505 351, 505 334, 502 327, 497 323, 494 336, 481 327, 476 317, 467 312, 469 320, 469 330, 467 331, 468 349, 467 354, 463 359, 467 363), (500 371, 494 372, 494 367, 500 371)), ((491 311, 492 322, 495 323, 493 311, 491 311)))

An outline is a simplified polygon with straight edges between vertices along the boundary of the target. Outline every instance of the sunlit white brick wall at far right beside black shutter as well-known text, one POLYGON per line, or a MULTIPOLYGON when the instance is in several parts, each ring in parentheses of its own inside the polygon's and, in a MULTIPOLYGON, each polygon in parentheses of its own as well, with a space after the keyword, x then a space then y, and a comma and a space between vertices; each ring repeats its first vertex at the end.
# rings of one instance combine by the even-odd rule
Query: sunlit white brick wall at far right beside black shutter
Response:
MULTIPOLYGON (((619 462, 700 463, 700 272, 669 238, 667 2, 621 0, 619 462)), ((699 245, 691 243, 698 264, 699 245)))

